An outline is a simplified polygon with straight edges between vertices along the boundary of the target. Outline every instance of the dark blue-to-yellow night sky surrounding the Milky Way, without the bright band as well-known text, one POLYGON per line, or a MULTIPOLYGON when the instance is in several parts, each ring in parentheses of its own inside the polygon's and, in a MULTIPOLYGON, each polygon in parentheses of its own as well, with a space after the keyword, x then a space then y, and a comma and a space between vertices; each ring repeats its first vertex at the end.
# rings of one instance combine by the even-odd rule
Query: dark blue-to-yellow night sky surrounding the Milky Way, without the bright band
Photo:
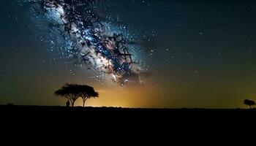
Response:
POLYGON ((256 2, 95 0, 94 6, 135 36, 147 66, 143 85, 97 81, 49 45, 50 31, 31 19, 32 6, 1 1, 0 104, 64 105, 53 93, 66 82, 94 86, 99 98, 86 105, 97 107, 236 108, 256 100, 256 2))

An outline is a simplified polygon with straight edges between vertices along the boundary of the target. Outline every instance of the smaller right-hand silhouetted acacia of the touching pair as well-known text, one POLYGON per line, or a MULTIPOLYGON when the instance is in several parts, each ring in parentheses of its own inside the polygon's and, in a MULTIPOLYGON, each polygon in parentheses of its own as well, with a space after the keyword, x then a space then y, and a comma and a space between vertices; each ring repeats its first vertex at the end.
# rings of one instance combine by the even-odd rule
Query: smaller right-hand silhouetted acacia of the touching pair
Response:
POLYGON ((99 93, 89 85, 79 85, 80 97, 83 99, 83 107, 87 99, 99 97, 99 93))

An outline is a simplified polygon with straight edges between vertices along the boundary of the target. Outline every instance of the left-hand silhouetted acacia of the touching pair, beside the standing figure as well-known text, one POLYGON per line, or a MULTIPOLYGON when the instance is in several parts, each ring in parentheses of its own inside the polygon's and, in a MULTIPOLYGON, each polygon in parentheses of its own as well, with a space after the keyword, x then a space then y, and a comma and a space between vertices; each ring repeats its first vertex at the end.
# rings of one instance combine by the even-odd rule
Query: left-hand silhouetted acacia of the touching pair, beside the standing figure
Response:
POLYGON ((79 85, 77 84, 65 84, 61 89, 55 91, 56 96, 62 96, 69 99, 72 107, 74 107, 75 101, 78 99, 79 94, 79 85))

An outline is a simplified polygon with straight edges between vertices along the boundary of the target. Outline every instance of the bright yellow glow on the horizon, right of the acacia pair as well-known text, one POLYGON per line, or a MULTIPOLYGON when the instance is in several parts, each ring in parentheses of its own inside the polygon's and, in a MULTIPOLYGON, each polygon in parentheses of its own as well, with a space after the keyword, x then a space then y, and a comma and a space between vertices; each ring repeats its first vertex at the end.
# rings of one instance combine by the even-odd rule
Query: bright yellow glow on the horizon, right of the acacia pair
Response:
MULTIPOLYGON (((96 88, 97 89, 97 88, 96 88)), ((109 87, 97 90, 99 98, 88 99, 86 107, 152 107, 157 105, 161 93, 159 88, 152 85, 136 87, 109 87)), ((76 106, 83 106, 83 101, 78 99, 76 106)))

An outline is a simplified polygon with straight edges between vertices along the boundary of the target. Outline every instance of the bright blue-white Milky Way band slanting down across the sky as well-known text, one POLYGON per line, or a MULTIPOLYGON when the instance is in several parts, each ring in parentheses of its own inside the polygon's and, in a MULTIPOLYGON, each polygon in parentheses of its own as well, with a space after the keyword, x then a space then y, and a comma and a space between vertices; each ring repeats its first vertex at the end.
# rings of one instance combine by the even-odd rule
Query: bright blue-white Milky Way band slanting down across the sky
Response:
POLYGON ((133 60, 129 45, 134 43, 117 32, 111 32, 109 23, 101 20, 89 8, 90 1, 39 0, 27 1, 39 5, 42 12, 53 20, 54 28, 64 38, 68 52, 79 64, 86 64, 97 78, 110 79, 125 85, 142 83, 143 69, 133 60))

